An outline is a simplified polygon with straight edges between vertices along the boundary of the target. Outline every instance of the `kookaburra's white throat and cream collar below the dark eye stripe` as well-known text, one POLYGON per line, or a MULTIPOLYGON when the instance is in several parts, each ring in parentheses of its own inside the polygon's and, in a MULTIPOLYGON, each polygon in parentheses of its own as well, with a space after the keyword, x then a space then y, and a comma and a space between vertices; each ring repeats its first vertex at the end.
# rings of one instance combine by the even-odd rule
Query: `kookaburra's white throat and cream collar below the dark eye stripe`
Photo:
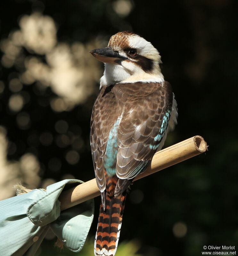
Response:
POLYGON ((146 73, 137 65, 131 62, 122 62, 122 65, 105 63, 105 70, 100 79, 100 88, 118 83, 159 83, 164 81, 160 68, 146 73))

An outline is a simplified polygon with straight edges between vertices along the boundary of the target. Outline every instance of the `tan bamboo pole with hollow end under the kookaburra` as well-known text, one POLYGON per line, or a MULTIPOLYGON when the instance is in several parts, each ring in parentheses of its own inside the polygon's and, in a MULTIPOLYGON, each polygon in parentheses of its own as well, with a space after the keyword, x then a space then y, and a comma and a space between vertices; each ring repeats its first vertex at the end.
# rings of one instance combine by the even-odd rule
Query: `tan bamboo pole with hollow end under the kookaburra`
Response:
MULTIPOLYGON (((165 148, 155 153, 150 166, 143 173, 135 177, 134 181, 204 153, 207 151, 207 148, 208 146, 205 140, 198 135, 165 148)), ((100 195, 100 191, 97 187, 96 179, 89 180, 69 190, 63 191, 59 197, 61 211, 98 195, 100 195)))

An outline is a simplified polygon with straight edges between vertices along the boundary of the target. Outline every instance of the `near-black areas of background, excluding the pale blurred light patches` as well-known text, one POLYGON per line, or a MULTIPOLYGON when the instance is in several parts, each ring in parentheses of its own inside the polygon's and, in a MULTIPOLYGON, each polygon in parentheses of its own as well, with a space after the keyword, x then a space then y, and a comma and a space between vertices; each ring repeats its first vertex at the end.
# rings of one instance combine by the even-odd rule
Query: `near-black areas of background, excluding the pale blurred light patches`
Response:
MULTIPOLYGON (((126 17, 114 10, 113 3, 107 0, 1 1, 1 39, 19 29, 23 14, 39 11, 55 21, 58 42, 85 44, 96 36, 108 41, 122 30, 133 30, 152 42, 161 54, 162 73, 171 83, 178 103, 178 125, 165 146, 201 135, 209 151, 134 183, 127 198, 119 244, 137 239, 138 253, 144 256, 201 255, 204 245, 238 245, 238 2, 134 1, 126 17), (178 222, 187 228, 182 237, 173 232, 178 222)), ((27 49, 24 52, 26 56, 32 54, 27 49)), ((92 58, 90 54, 87 57, 92 58)), ((34 83, 23 85, 22 90, 29 93, 30 100, 22 111, 29 114, 31 122, 28 128, 21 129, 16 125, 18 113, 8 107, 12 95, 8 83, 16 72, 21 70, 14 66, 0 67, 0 80, 5 84, 0 94, 0 125, 7 129, 7 139, 16 145, 12 151, 8 147, 8 160, 18 161, 24 153, 33 153, 40 163, 42 180, 59 181, 65 172, 84 181, 94 178, 89 124, 99 84, 84 104, 62 112, 55 112, 50 106, 55 95, 50 87, 36 94, 34 83), (39 104, 41 101, 45 104, 39 104), (75 164, 65 159, 73 146, 59 147, 55 143, 58 120, 66 121, 67 132, 82 139, 81 146, 76 147, 80 159, 75 164), (29 135, 37 138, 44 131, 53 135, 50 145, 29 143, 29 135), (60 159, 60 169, 49 168, 52 158, 60 159)), ((90 237, 95 235, 99 204, 100 198, 95 198, 90 237)))

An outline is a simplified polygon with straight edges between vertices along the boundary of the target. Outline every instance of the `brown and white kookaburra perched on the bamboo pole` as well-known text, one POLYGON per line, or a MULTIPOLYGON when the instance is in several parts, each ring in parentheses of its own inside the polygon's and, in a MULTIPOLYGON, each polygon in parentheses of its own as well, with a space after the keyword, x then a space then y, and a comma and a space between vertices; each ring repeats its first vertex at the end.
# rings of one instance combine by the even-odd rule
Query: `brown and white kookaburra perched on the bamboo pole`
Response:
POLYGON ((90 53, 104 62, 90 123, 101 205, 94 255, 114 256, 128 187, 161 150, 177 124, 177 103, 161 73, 158 50, 131 31, 90 53))

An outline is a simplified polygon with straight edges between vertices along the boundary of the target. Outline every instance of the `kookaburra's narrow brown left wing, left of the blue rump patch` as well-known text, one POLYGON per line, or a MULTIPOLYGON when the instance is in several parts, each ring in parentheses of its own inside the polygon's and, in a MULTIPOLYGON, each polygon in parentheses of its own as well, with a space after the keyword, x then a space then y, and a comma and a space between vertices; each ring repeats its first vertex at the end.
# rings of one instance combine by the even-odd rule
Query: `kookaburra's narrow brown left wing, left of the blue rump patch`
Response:
POLYGON ((111 92, 111 87, 102 87, 94 103, 90 132, 95 177, 101 192, 106 188, 103 157, 106 151, 109 132, 117 118, 115 95, 111 92))

